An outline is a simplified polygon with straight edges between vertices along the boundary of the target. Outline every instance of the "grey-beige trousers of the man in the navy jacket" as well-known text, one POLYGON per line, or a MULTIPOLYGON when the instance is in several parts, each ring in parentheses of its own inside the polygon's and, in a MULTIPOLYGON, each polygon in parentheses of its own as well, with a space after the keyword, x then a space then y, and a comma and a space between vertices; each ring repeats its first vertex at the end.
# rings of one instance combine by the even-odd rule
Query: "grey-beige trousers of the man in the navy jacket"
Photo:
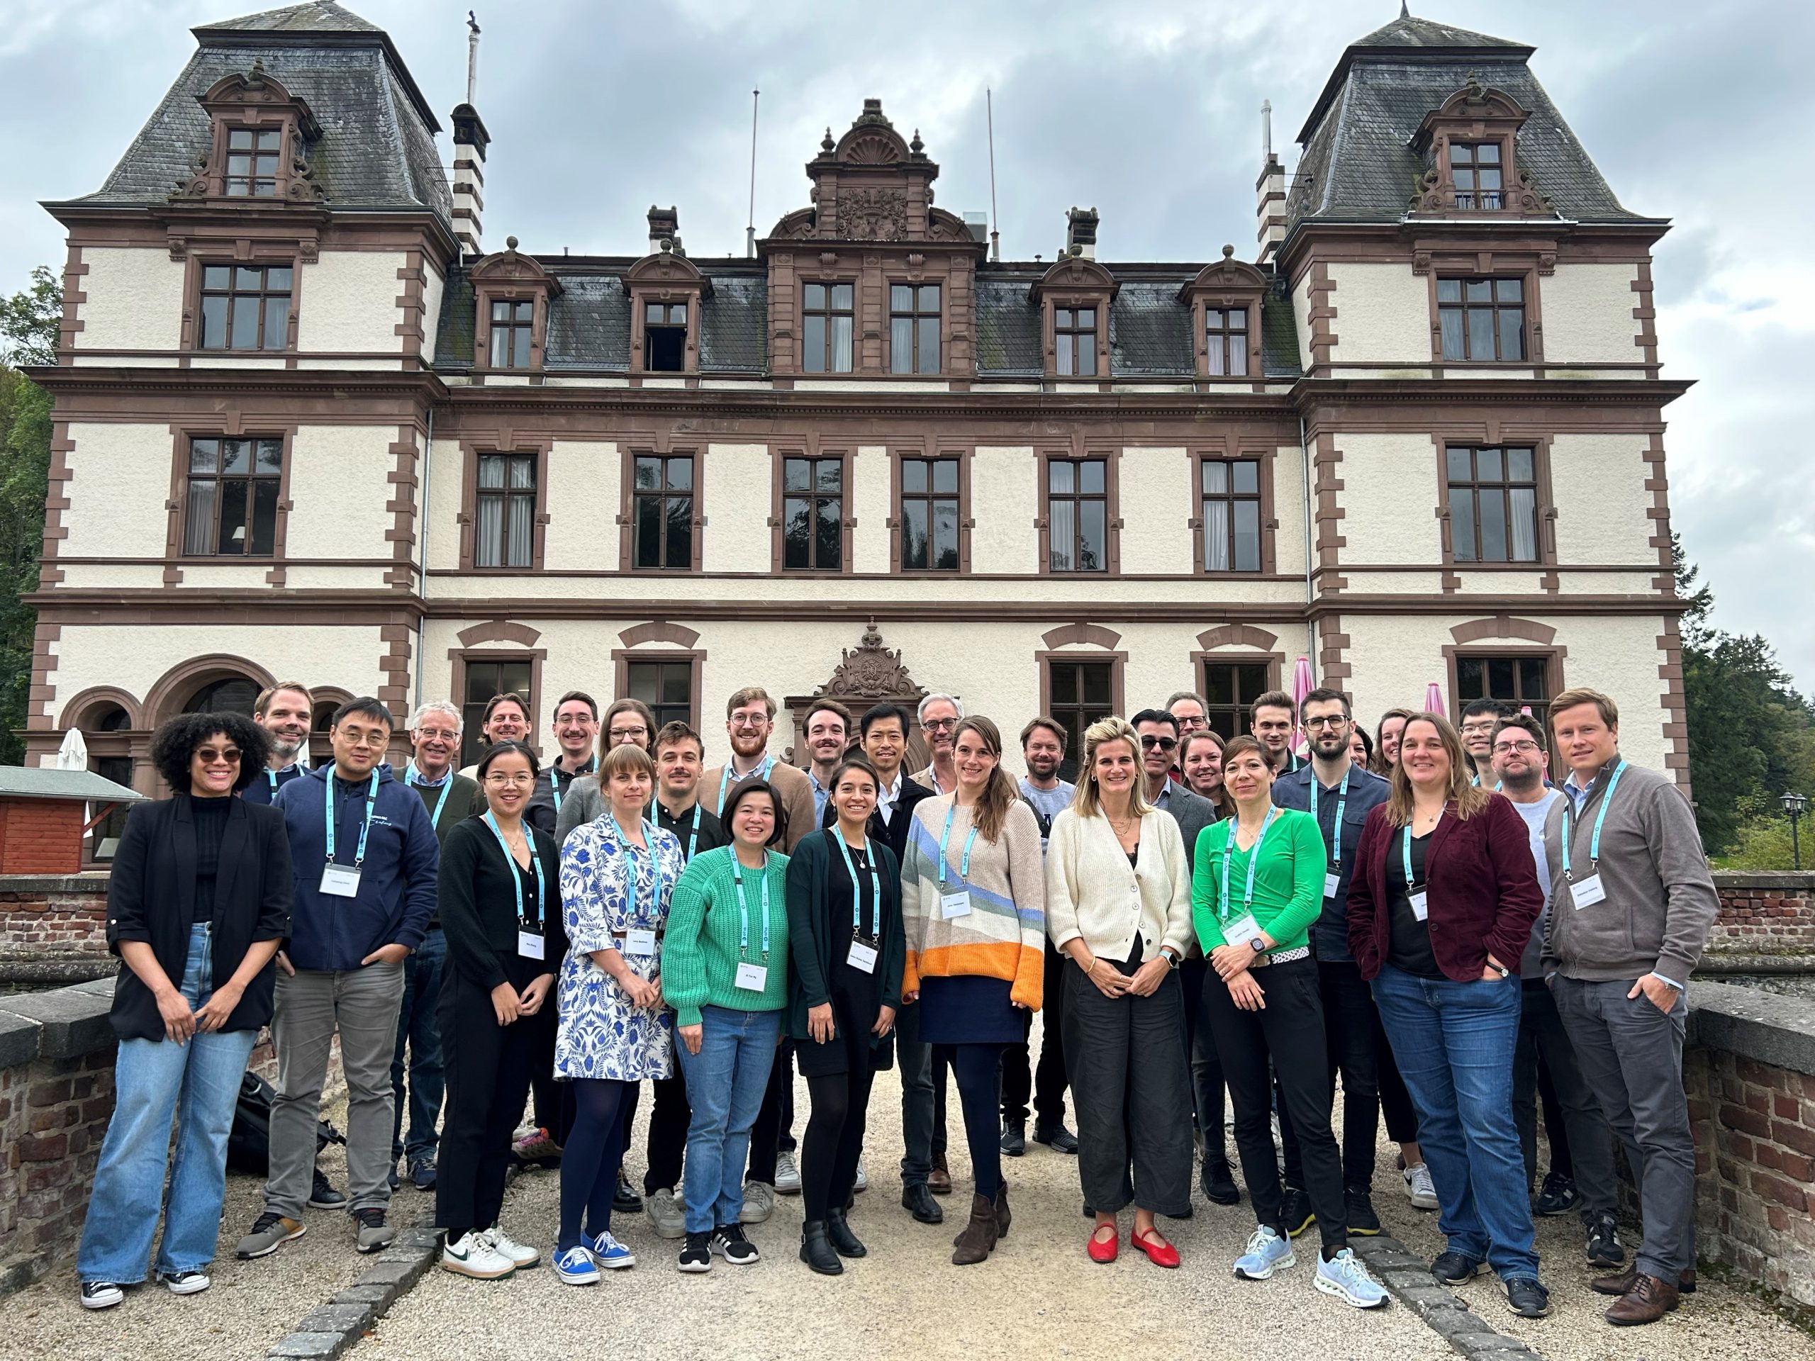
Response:
POLYGON ((403 965, 368 964, 339 973, 278 969, 278 1009, 270 1038, 278 1047, 278 1096, 270 1103, 270 1176, 265 1209, 303 1218, 316 1167, 316 1120, 334 1033, 347 1074, 348 1210, 390 1203, 392 1087, 403 965))

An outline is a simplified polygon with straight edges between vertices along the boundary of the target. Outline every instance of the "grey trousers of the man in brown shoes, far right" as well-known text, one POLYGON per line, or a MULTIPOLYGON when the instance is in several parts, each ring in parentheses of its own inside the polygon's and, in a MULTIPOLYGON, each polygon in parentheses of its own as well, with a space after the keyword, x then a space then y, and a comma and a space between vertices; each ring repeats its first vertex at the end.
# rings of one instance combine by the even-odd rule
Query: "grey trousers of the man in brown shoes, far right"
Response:
MULTIPOLYGON (((1644 1241, 1637 1267, 1675 1283, 1695 1265, 1695 1140, 1683 1091, 1690 1004, 1679 993, 1666 1014, 1644 993, 1628 998, 1632 984, 1630 978, 1586 984, 1557 974, 1554 996, 1583 1080, 1601 1098, 1606 1123, 1639 1176, 1644 1241)), ((1570 1154, 1579 1158, 1574 1134, 1570 1154)))

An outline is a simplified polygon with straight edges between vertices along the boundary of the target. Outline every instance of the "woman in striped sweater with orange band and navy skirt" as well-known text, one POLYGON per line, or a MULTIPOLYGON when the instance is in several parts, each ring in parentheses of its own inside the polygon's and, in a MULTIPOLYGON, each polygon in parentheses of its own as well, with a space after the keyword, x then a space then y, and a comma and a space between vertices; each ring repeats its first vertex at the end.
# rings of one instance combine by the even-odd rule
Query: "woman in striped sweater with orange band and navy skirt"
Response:
POLYGON ((902 866, 908 967, 902 1002, 920 1002, 920 1038, 946 1049, 964 1103, 976 1192, 951 1261, 984 1261, 1009 1230, 996 1118, 1002 1049, 1040 1007, 1045 876, 1040 824, 1002 769, 1002 733, 964 719, 951 739, 958 788, 922 798, 902 866))

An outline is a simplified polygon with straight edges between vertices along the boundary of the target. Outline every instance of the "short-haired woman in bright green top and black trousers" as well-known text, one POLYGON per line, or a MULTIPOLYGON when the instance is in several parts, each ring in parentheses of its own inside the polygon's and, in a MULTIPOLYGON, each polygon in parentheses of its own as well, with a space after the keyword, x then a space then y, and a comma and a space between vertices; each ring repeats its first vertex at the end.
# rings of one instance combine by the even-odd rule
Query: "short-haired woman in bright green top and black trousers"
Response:
POLYGON ((1234 1274, 1265 1281, 1298 1265, 1272 1147, 1270 1072, 1278 1072, 1323 1238, 1316 1287, 1356 1308, 1378 1308, 1387 1292, 1349 1250, 1318 962, 1305 935, 1323 911, 1323 833, 1310 813, 1274 808, 1272 764, 1252 737, 1223 748, 1223 788, 1236 815, 1198 833, 1191 915, 1211 960, 1203 1011, 1229 1082, 1241 1174, 1260 1221, 1234 1274))

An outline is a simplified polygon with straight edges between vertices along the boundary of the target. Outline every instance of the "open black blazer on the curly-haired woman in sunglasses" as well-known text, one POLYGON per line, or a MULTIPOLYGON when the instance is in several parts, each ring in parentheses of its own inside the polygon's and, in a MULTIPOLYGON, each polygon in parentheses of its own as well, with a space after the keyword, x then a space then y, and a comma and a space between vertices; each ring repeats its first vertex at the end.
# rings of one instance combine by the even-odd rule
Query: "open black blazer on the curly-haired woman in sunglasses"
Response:
MULTIPOLYGON (((231 798, 214 880, 214 987, 234 976, 256 942, 290 935, 292 893, 283 811, 231 798)), ((107 949, 118 955, 122 942, 145 942, 171 984, 182 987, 194 906, 196 820, 189 795, 134 804, 107 880, 107 949)), ((274 962, 260 969, 221 1029, 269 1023, 276 976, 274 962)), ((165 1038, 158 1000, 125 964, 114 984, 113 1027, 122 1040, 165 1038)))

